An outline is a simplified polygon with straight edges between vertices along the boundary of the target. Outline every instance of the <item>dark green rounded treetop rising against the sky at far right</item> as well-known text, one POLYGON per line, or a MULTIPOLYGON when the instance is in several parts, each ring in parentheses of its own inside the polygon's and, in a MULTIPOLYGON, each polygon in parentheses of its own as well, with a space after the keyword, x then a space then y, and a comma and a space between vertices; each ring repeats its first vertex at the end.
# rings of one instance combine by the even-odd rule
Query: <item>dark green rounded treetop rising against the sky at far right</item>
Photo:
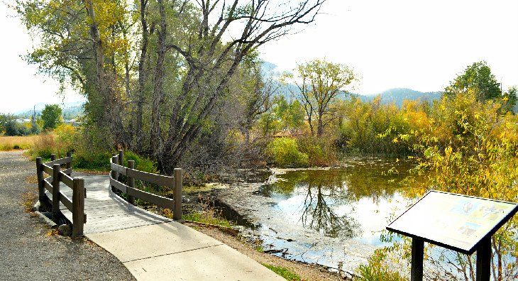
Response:
POLYGON ((452 97, 458 92, 469 91, 475 94, 478 101, 501 97, 500 83, 495 79, 495 75, 492 75, 491 69, 485 61, 473 62, 473 65, 466 67, 464 72, 444 89, 444 94, 452 97))

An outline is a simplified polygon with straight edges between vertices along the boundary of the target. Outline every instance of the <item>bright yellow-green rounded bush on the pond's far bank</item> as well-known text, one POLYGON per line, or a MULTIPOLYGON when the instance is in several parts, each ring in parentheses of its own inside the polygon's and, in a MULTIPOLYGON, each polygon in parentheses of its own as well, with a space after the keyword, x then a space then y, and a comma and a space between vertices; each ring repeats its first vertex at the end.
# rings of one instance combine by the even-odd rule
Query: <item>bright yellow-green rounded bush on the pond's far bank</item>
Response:
POLYGON ((268 154, 281 167, 307 167, 308 155, 299 151, 294 138, 275 138, 268 144, 268 154))

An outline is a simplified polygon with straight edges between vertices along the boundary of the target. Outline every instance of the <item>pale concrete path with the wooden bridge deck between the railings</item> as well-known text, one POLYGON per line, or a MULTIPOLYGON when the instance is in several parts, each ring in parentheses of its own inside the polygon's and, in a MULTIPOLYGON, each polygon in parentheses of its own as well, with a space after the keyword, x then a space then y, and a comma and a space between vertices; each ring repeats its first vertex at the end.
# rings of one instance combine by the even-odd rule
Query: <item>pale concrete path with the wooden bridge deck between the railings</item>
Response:
POLYGON ((84 186, 85 236, 137 280, 284 280, 214 238, 128 204, 109 191, 107 176, 84 177, 84 186))

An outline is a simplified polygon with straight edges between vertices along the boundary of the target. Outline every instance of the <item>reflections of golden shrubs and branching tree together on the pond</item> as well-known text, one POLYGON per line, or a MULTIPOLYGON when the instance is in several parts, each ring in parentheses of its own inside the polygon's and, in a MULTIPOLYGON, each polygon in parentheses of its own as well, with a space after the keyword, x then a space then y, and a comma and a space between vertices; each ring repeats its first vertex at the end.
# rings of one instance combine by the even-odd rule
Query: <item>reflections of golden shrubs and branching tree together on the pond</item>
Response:
POLYGON ((351 206, 363 198, 377 204, 380 199, 394 196, 408 167, 398 167, 402 171, 399 175, 382 175, 391 167, 362 163, 344 169, 290 171, 280 175, 279 182, 265 187, 263 194, 275 193, 286 198, 304 194, 301 218, 304 227, 329 237, 353 238, 361 235, 360 224, 351 214, 339 216, 333 206, 351 206))

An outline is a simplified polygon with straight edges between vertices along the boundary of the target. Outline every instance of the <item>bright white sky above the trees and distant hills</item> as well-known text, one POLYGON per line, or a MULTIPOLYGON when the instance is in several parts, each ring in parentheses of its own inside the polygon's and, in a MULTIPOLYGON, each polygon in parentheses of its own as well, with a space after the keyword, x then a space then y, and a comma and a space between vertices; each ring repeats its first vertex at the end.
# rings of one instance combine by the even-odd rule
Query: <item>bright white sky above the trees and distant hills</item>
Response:
MULTIPOLYGON (((33 41, 13 11, 0 3, 0 113, 35 104, 82 101, 38 75, 21 58, 33 41)), ((260 48, 277 70, 293 71, 316 58, 351 67, 360 80, 354 92, 395 87, 441 91, 473 62, 485 60, 503 88, 518 85, 518 1, 327 0, 308 26, 260 48)))

